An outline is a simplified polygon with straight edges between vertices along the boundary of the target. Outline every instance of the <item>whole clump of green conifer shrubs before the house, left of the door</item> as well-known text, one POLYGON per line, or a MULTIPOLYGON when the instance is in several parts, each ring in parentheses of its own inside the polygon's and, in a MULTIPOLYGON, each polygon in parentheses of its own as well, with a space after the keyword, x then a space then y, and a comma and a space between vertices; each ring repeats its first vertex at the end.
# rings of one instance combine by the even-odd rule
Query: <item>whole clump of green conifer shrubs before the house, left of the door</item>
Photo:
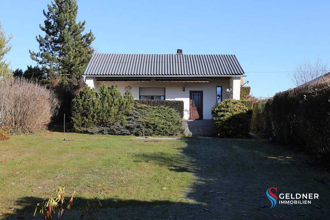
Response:
POLYGON ((134 102, 129 89, 121 96, 116 85, 99 87, 99 94, 87 85, 72 104, 76 132, 109 135, 176 135, 181 118, 167 106, 146 106, 134 102), (135 106, 134 106, 135 104, 135 106))

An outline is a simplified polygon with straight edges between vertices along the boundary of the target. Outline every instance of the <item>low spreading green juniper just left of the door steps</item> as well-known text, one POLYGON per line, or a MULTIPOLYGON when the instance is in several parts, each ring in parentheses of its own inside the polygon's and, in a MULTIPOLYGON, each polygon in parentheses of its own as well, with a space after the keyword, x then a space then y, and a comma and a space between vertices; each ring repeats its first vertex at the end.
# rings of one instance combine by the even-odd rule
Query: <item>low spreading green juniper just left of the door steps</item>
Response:
POLYGON ((138 119, 145 128, 145 135, 176 135, 180 129, 180 115, 167 106, 146 106, 135 104, 141 117, 138 119))

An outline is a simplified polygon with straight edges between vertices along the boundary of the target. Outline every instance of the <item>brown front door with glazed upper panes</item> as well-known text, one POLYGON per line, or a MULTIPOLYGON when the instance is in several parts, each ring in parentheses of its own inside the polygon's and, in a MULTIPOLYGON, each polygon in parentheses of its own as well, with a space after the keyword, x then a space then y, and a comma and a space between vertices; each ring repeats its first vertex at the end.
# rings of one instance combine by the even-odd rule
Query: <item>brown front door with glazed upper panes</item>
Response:
POLYGON ((203 91, 189 91, 190 120, 203 120, 203 91))

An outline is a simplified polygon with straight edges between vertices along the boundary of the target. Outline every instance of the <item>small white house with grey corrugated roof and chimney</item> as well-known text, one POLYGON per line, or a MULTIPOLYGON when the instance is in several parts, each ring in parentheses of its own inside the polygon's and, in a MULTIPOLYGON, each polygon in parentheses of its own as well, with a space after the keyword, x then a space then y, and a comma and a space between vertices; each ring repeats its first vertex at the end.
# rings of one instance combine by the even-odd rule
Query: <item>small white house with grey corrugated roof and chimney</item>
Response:
POLYGON ((212 119, 211 108, 223 99, 240 99, 244 71, 235 55, 93 54, 84 74, 91 88, 117 85, 134 99, 182 100, 187 120, 212 119), (231 89, 227 93, 227 89, 231 89))

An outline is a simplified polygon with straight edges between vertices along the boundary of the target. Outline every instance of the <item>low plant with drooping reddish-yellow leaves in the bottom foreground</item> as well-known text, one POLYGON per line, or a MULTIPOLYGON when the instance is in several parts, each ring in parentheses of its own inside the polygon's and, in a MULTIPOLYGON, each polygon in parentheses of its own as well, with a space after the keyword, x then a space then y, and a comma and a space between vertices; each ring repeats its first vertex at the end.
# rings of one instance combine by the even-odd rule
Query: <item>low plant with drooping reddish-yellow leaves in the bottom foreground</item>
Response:
MULTIPOLYGON (((42 203, 38 203, 36 209, 34 211, 33 216, 36 215, 37 210, 44 215, 44 219, 52 220, 62 219, 64 213, 67 210, 71 210, 73 204, 73 198, 76 197, 79 192, 73 191, 71 198, 67 204, 65 204, 64 196, 65 196, 65 187, 57 187, 55 193, 56 198, 49 198, 48 200, 44 200, 42 203), (57 212, 57 218, 55 218, 55 213, 57 212)), ((102 206, 100 200, 95 197, 94 200, 89 203, 87 202, 86 206, 82 209, 81 215, 79 219, 82 220, 91 220, 94 218, 94 211, 99 211, 99 207, 102 206)))

